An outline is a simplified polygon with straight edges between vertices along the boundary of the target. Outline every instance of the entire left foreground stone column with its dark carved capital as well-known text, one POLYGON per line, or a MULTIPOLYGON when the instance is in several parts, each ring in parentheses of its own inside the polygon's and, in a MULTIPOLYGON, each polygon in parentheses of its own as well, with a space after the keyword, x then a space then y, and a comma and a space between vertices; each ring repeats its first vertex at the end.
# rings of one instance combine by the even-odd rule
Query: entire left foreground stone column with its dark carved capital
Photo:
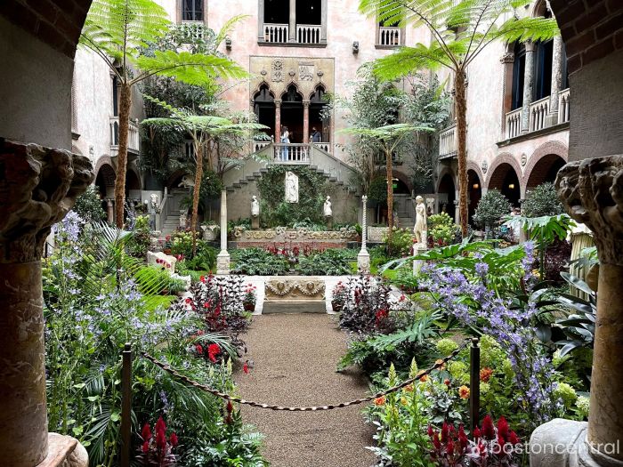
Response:
POLYGON ((89 159, 0 139, 0 453, 33 467, 48 455, 41 256, 52 225, 93 181, 89 159))

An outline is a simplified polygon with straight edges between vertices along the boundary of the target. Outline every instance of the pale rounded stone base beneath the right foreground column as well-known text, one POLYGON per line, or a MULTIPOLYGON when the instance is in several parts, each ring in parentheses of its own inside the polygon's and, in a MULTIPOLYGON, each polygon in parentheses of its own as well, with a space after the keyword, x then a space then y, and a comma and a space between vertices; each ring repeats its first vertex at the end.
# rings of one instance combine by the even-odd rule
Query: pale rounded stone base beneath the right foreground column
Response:
POLYGON ((562 418, 542 424, 530 437, 530 467, 623 467, 587 444, 587 429, 587 422, 562 418))

